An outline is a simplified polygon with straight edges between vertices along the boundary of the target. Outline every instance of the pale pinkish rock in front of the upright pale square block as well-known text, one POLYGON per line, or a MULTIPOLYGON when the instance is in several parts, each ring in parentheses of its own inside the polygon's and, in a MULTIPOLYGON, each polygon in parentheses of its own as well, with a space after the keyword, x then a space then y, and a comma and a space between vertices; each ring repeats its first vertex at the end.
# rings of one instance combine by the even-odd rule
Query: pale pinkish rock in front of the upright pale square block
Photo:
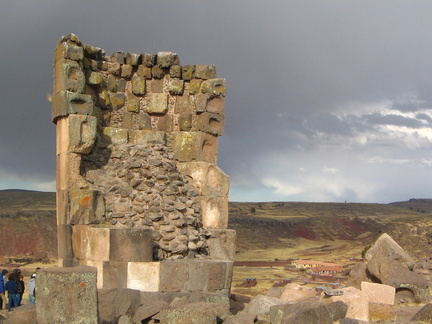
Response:
POLYGON ((322 294, 320 301, 325 304, 342 301, 348 305, 347 317, 368 322, 369 300, 367 295, 354 287, 342 288, 341 290, 344 291, 343 296, 323 297, 324 294, 322 294))

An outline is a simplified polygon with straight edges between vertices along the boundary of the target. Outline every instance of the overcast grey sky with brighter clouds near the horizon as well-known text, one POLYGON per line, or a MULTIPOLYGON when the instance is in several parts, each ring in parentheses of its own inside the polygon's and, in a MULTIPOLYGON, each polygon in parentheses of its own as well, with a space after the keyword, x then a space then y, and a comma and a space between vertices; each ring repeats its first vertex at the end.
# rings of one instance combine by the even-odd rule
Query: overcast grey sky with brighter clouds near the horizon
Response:
POLYGON ((0 189, 55 191, 62 35, 227 79, 232 201, 432 198, 431 1, 2 1, 0 189))

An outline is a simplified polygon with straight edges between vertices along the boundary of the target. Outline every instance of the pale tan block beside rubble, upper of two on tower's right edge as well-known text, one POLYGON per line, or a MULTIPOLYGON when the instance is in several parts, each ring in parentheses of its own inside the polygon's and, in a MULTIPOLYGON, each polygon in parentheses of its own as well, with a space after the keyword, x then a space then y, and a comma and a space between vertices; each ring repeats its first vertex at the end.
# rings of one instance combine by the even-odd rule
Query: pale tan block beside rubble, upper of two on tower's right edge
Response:
POLYGON ((178 164, 201 196, 228 197, 230 179, 218 166, 208 162, 185 162, 178 164))

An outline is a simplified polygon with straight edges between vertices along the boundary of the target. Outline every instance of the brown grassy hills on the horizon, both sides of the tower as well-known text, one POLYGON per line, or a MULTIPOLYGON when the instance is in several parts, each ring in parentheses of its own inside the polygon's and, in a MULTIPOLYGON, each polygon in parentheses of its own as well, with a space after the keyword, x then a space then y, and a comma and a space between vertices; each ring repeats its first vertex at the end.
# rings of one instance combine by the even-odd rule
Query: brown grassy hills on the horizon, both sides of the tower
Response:
MULTIPOLYGON (((298 239, 352 242, 362 249, 381 233, 413 257, 432 254, 432 199, 391 204, 230 202, 229 228, 240 252, 286 248, 298 239)), ((55 193, 0 190, 0 257, 57 253, 55 193)))

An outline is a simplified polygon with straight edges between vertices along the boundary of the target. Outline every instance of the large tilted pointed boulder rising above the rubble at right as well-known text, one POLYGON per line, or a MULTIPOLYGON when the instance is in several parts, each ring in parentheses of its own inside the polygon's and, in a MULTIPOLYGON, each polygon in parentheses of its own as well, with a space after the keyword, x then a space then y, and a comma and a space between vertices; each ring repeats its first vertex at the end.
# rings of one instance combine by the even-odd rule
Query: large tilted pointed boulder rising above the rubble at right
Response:
POLYGON ((388 234, 382 234, 366 253, 367 269, 383 284, 388 284, 395 267, 411 270, 414 260, 388 234))

